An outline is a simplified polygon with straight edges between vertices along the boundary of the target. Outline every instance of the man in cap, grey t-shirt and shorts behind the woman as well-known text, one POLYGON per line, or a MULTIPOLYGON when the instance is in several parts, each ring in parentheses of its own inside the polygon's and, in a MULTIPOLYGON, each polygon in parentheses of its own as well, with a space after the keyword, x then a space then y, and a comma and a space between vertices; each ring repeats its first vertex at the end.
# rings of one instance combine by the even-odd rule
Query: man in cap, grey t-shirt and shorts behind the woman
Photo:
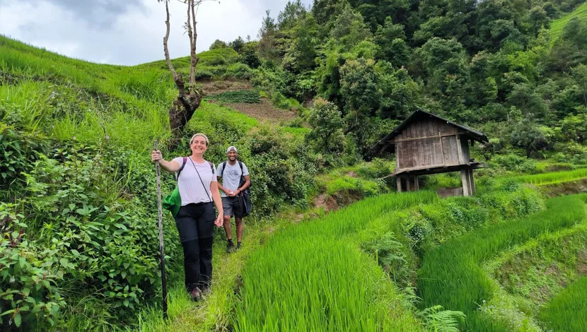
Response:
POLYGON ((243 210, 239 195, 250 186, 249 170, 247 166, 238 161, 238 151, 234 146, 226 150, 228 160, 218 165, 216 176, 218 177, 218 188, 221 190, 222 208, 224 211, 224 230, 228 238, 226 252, 235 250, 231 230, 231 217, 234 216, 236 224, 236 249, 240 249, 240 241, 243 239, 243 210), (241 180, 242 179, 242 180, 241 180))

